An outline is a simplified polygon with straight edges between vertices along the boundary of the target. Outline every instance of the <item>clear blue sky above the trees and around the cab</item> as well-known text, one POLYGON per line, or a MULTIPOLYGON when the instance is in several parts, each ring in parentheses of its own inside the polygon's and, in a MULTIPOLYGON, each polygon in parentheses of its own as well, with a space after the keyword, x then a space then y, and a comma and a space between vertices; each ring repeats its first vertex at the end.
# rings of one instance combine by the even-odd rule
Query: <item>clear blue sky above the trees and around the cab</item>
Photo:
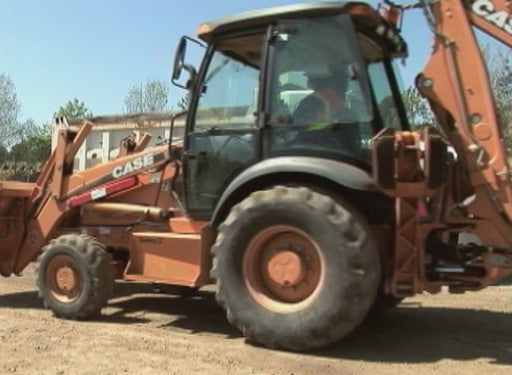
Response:
MULTIPOLYGON (((95 115, 120 113, 132 86, 169 81, 177 41, 194 36, 202 21, 295 2, 0 0, 0 72, 16 86, 22 120, 49 122, 75 97, 95 115)), ((404 34, 411 58, 402 71, 409 85, 430 51, 421 12, 406 14, 404 34)), ((172 90, 171 103, 182 94, 172 90)))

